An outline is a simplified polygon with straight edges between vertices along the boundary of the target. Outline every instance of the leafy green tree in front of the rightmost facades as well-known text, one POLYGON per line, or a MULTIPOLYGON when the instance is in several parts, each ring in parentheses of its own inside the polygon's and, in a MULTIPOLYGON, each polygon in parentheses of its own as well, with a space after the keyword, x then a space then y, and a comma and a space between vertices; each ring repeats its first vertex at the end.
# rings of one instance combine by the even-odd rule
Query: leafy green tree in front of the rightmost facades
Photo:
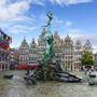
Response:
POLYGON ((83 55, 80 58, 82 66, 93 66, 95 60, 93 59, 93 53, 88 51, 83 51, 83 55))

